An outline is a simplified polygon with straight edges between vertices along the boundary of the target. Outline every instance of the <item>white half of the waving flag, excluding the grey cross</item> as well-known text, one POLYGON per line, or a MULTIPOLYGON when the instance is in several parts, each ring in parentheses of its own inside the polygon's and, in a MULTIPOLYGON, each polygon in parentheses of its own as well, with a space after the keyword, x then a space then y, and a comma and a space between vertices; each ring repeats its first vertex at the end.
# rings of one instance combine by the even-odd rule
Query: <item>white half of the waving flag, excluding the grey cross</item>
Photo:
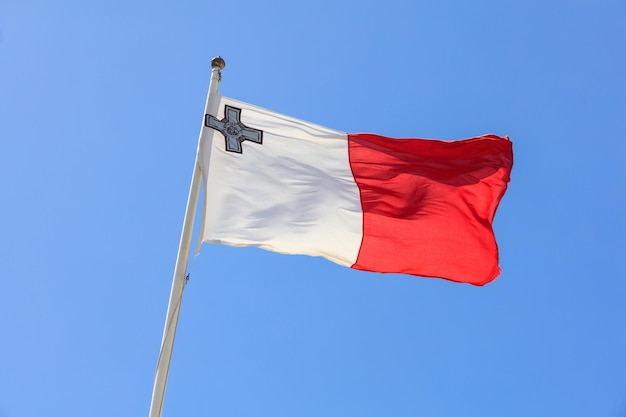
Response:
POLYGON ((359 188, 347 134, 226 97, 241 122, 263 131, 263 143, 227 152, 225 138, 203 127, 199 163, 205 181, 201 241, 258 246, 290 254, 356 262, 362 240, 359 188))

